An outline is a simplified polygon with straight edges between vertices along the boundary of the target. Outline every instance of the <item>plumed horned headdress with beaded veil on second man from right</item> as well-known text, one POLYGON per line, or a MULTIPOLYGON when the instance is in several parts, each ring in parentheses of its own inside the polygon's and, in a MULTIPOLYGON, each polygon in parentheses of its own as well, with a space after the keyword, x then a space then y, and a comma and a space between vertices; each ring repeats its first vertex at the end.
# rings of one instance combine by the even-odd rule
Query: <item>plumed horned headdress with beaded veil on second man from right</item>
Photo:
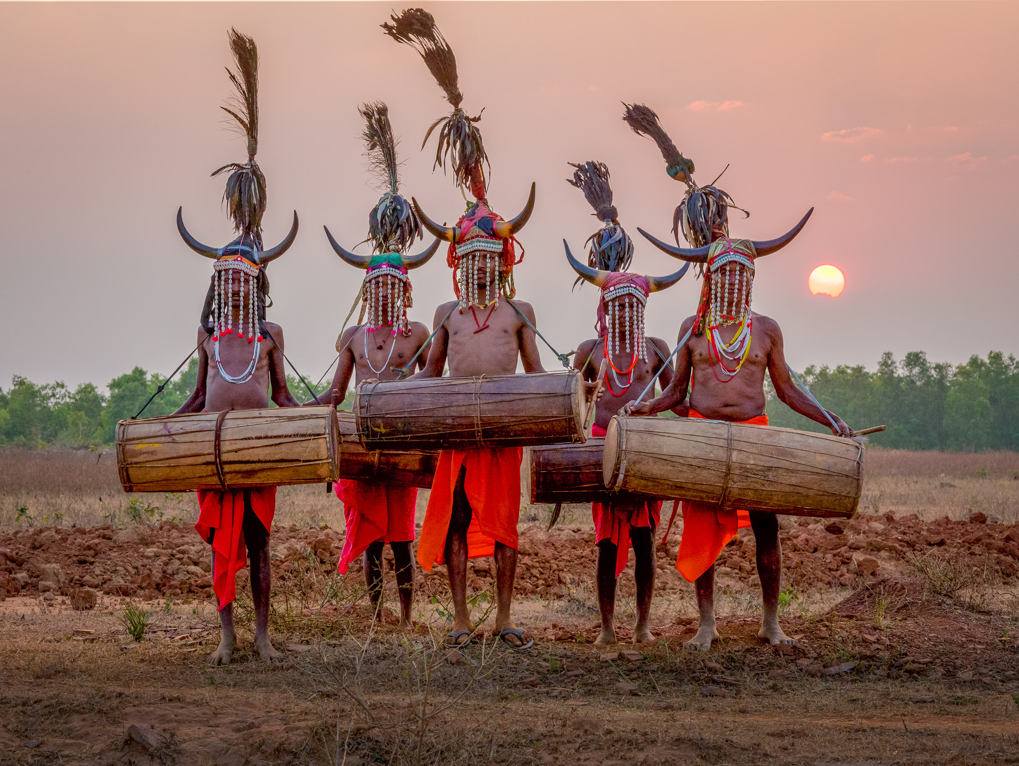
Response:
POLYGON ((567 178, 567 182, 584 193, 588 204, 594 209, 594 215, 603 225, 587 239, 590 245, 587 266, 574 258, 566 239, 562 240, 562 245, 567 251, 567 260, 579 275, 577 281, 588 281, 601 288, 598 337, 605 338, 605 359, 612 364, 609 346, 614 353, 619 353, 621 347, 625 347, 627 353, 633 348, 633 363, 629 370, 615 370, 612 365, 616 373, 626 375, 633 371, 638 358, 647 362, 644 307, 648 295, 679 282, 690 264, 685 264, 682 269, 666 277, 628 272, 633 260, 634 243, 626 229, 620 225, 619 213, 612 205, 608 167, 603 162, 593 160, 583 164, 571 162, 570 165, 575 168, 574 177, 567 178))

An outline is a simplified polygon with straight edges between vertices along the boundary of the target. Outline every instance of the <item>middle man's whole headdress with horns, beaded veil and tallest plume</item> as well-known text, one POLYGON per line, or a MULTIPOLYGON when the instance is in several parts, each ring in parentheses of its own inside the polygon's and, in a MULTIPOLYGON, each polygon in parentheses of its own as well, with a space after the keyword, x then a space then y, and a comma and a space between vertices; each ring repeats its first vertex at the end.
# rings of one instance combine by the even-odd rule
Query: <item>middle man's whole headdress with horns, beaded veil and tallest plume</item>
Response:
POLYGON ((455 184, 462 189, 470 188, 475 199, 475 202, 468 205, 467 212, 461 216, 455 226, 436 223, 425 215, 418 201, 412 198, 415 211, 428 231, 449 242, 446 264, 453 270, 453 290, 460 298, 460 310, 464 311, 469 306, 497 306, 500 293, 508 298, 516 294, 513 268, 524 258, 523 248, 520 257, 517 257, 516 249, 520 247, 520 242, 517 241, 516 234, 524 228, 534 210, 535 186, 531 184, 527 205, 516 218, 506 221, 491 210, 485 187, 488 156, 478 129, 481 114, 471 117, 461 107, 464 95, 458 84, 457 59, 436 26, 432 14, 421 8, 409 8, 398 16, 390 16, 390 22, 383 23, 382 29, 396 42, 414 48, 445 92, 452 112, 431 124, 425 133, 422 149, 438 128, 438 147, 432 168, 441 167, 444 171, 448 164, 455 184), (494 296, 491 294, 491 285, 487 285, 482 298, 478 294, 478 272, 486 269, 485 273, 489 273, 493 259, 497 267, 498 284, 494 296))

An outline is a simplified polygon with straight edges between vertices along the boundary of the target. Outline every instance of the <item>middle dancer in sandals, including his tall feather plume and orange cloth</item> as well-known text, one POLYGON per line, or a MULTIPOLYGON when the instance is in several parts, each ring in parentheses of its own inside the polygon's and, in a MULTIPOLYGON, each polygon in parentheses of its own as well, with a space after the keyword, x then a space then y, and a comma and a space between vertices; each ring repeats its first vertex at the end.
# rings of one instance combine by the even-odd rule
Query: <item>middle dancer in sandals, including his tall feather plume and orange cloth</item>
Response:
MULTIPOLYGON (((439 127, 435 165, 451 165, 455 183, 469 187, 475 198, 455 226, 431 221, 415 201, 422 224, 449 242, 446 263, 453 270, 457 299, 435 312, 435 338, 425 369, 415 377, 441 377, 448 362, 449 375, 512 375, 521 359, 525 372, 544 372, 532 327, 534 310, 514 302, 513 269, 524 256, 517 255, 516 234, 534 209, 534 184, 524 211, 504 221, 488 206, 483 164, 487 161, 478 130, 478 117, 469 117, 460 104, 457 60, 435 25, 420 8, 391 17, 382 29, 399 43, 413 47, 445 92, 453 111, 432 123, 428 135, 439 127)), ((428 509, 418 543, 418 563, 430 570, 445 563, 452 591, 453 624, 449 645, 473 640, 475 626, 467 605, 467 560, 495 557, 497 611, 495 630, 516 649, 530 648, 529 632, 511 620, 517 569, 517 523, 520 515, 520 447, 443 449, 435 472, 428 509)))

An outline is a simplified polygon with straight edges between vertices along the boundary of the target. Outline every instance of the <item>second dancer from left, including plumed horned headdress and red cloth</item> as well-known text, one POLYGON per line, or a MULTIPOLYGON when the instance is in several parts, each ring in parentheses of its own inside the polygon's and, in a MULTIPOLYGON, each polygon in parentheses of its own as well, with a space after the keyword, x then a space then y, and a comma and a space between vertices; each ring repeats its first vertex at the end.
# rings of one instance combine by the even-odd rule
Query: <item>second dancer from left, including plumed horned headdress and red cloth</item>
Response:
MULTIPOLYGON (((407 310, 413 305, 409 270, 424 266, 439 248, 436 239, 423 253, 404 255, 415 237, 421 238, 422 232, 410 202, 399 195, 399 163, 389 110, 385 104, 376 103, 364 104, 360 111, 365 118, 362 138, 368 167, 381 182, 384 194, 368 214, 368 241, 374 255, 358 256, 345 251, 329 229, 325 230, 337 256, 351 266, 367 270, 361 287, 361 317, 356 327, 343 330, 336 340, 339 352, 336 374, 329 393, 320 397, 324 403, 336 406, 346 396, 352 374, 355 384, 373 379, 396 380, 401 368, 411 365, 409 371, 413 372, 419 364, 424 366, 428 328, 407 318, 407 310)), ((346 517, 340 573, 346 573, 351 562, 364 554, 369 598, 378 610, 382 604, 382 548, 389 543, 396 568, 399 626, 410 627, 414 599, 411 543, 418 505, 417 487, 340 479, 335 491, 336 497, 343 501, 346 517)))

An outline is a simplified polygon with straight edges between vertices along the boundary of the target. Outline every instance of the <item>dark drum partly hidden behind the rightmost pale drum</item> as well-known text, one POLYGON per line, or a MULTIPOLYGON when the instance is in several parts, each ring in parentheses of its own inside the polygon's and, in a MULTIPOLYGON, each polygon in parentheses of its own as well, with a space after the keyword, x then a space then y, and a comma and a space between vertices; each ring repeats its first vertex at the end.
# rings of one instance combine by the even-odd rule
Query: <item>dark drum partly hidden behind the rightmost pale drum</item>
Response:
MULTIPOLYGON (((525 452, 532 503, 600 502, 609 499, 601 480, 602 447, 594 437, 583 444, 529 447, 525 452)), ((526 487, 525 487, 526 489, 526 487)))

